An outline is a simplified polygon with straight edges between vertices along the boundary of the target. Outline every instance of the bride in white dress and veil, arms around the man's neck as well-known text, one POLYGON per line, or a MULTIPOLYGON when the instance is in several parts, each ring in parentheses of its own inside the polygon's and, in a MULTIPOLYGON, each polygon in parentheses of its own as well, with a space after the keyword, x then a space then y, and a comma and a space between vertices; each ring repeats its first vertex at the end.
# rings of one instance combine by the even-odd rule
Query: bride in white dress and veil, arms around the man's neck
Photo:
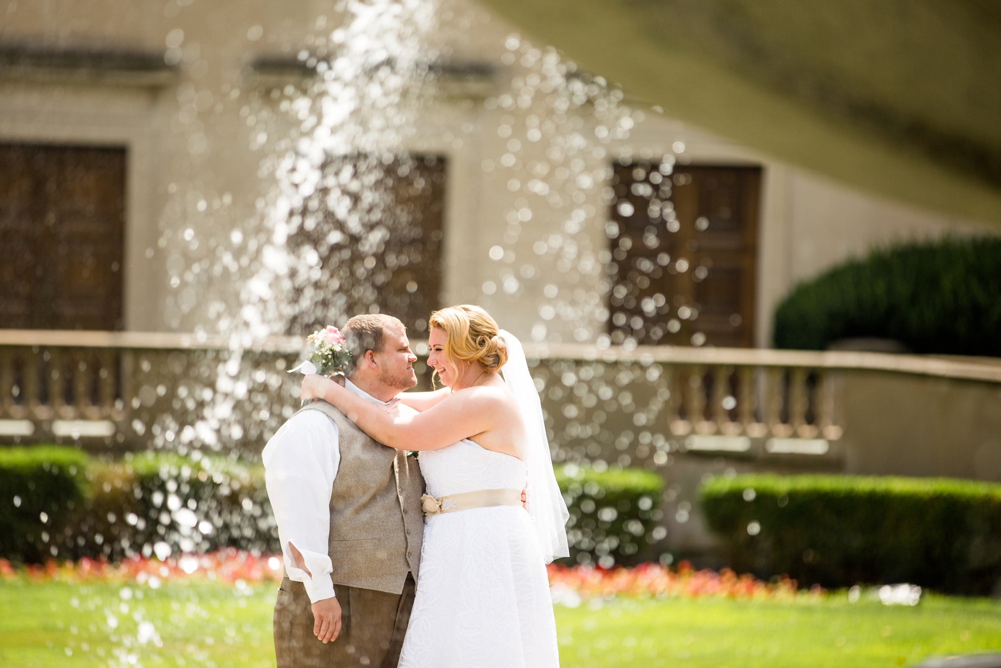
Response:
POLYGON ((419 453, 424 542, 399 666, 559 666, 546 564, 568 555, 568 512, 525 352, 478 306, 443 308, 428 324, 427 364, 446 387, 401 395, 416 416, 391 417, 320 376, 302 382, 303 399, 419 453))

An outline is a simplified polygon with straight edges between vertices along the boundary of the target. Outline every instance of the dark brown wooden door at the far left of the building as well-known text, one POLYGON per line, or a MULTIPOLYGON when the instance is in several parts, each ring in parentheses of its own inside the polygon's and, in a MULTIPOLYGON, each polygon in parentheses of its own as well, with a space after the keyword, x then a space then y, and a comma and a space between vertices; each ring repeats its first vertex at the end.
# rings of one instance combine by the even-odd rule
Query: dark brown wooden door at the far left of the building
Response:
POLYGON ((0 327, 121 329, 125 150, 0 144, 0 327))

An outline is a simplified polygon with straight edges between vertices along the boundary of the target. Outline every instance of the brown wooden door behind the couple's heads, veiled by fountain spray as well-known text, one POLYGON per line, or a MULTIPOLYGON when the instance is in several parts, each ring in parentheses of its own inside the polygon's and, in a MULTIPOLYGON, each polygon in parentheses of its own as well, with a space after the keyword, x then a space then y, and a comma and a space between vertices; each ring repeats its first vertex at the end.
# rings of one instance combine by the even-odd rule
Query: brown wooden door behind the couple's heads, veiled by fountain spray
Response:
MULTIPOLYGON (((426 338, 427 316, 441 305, 444 158, 385 164, 353 156, 331 160, 324 174, 327 205, 292 239, 314 248, 320 259, 312 305, 293 318, 293 330, 382 312, 402 320, 411 337, 426 338), (360 189, 354 189, 354 179, 360 189), (338 200, 350 205, 337 210, 338 200)), ((304 212, 303 220, 309 219, 304 212)))

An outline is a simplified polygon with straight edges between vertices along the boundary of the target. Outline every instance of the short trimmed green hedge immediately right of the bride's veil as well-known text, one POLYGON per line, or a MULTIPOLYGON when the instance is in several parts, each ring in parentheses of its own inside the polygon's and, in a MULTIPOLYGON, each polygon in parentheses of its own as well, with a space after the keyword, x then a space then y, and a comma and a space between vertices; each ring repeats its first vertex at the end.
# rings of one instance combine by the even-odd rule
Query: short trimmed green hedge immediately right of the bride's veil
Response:
POLYGON ((573 464, 557 467, 556 474, 570 510, 570 563, 611 566, 649 558, 663 478, 643 469, 599 473, 573 464))

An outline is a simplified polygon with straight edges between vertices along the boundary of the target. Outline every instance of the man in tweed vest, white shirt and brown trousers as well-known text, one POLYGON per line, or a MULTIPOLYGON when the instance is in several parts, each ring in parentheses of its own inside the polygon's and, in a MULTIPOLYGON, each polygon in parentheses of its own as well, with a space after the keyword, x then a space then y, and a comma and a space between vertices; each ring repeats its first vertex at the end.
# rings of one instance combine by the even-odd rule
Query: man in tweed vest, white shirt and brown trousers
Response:
MULTIPOLYGON (((403 323, 357 315, 345 387, 390 413, 416 385, 403 323)), ((262 455, 285 577, 274 605, 278 668, 395 667, 409 621, 423 521, 417 461, 372 441, 324 402, 307 404, 262 455)))

